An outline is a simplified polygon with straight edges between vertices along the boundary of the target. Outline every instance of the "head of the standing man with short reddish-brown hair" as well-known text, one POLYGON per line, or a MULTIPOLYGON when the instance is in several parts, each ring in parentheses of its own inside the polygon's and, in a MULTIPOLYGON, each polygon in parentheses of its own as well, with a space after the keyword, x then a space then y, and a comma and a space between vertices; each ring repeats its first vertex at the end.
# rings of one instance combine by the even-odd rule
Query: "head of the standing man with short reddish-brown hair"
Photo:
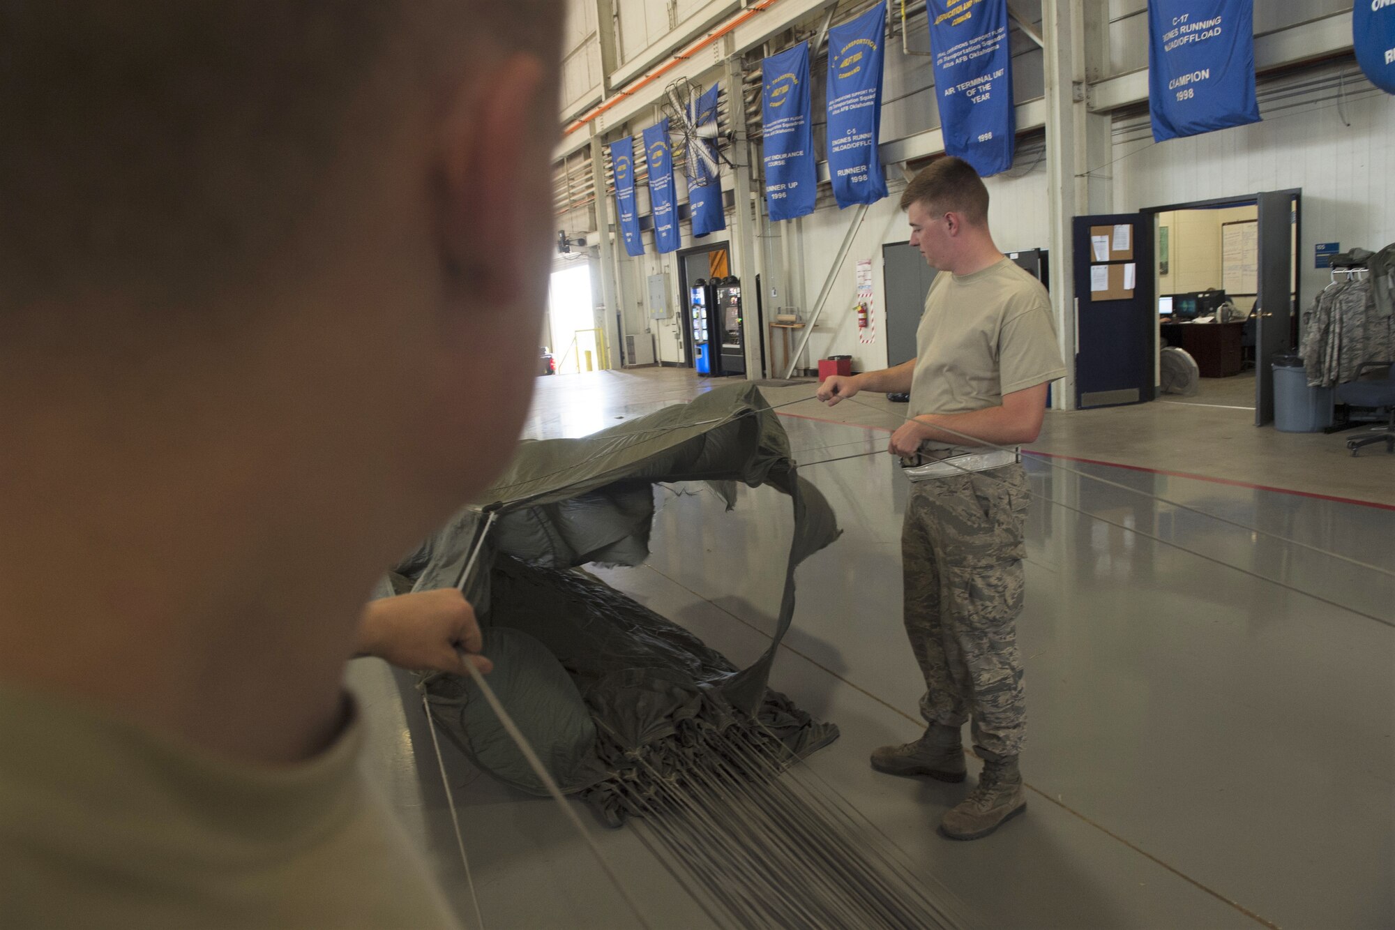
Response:
POLYGON ((954 271, 961 256, 988 239, 988 187, 974 168, 954 156, 930 162, 901 193, 911 244, 925 261, 954 271))

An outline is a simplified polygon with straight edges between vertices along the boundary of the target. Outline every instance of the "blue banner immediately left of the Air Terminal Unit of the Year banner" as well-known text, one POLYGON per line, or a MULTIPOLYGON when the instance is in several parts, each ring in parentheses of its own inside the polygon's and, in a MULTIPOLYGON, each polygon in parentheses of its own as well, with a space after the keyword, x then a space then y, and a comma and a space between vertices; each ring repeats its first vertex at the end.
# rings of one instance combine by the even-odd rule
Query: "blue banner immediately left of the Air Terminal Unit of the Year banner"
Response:
POLYGON ((886 197, 877 152, 886 7, 829 29, 829 177, 838 207, 886 197))

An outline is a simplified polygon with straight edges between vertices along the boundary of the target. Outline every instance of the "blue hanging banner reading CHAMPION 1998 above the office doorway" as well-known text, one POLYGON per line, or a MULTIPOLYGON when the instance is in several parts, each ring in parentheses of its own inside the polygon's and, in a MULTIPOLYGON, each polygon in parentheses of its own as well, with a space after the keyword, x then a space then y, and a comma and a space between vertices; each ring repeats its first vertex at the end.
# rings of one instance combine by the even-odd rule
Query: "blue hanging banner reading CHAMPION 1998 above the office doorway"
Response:
POLYGON ((1148 109, 1158 142, 1260 121, 1254 0, 1149 0, 1148 109))

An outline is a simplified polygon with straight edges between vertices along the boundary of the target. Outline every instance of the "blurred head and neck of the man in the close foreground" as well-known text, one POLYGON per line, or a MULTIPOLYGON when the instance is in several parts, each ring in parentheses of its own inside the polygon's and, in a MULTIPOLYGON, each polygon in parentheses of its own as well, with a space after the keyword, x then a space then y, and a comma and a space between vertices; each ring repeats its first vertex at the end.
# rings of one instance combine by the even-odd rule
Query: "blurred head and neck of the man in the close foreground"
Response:
POLYGON ((0 4, 0 680, 325 744, 374 580, 527 409, 561 22, 0 4))

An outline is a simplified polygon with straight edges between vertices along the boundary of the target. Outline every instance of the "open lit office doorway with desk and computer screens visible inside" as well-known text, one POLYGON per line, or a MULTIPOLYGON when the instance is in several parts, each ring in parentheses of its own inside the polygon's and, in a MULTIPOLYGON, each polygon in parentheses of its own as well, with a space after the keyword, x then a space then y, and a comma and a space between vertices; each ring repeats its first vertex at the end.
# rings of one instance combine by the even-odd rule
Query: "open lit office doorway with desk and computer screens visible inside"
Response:
POLYGON ((1272 419, 1271 359, 1295 345, 1300 191, 1154 208, 1159 399, 1272 419))

